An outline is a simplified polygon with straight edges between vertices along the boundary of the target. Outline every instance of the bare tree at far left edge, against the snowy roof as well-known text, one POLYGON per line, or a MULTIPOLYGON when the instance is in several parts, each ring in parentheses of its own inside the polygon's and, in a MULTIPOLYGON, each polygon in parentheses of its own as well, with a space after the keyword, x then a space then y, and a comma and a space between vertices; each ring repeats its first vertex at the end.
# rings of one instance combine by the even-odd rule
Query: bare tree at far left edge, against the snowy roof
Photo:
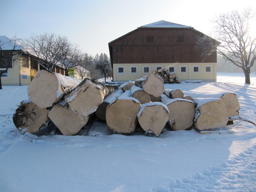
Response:
POLYGON ((13 67, 13 61, 16 60, 16 55, 18 55, 18 50, 20 51, 21 47, 18 45, 17 38, 8 41, 1 41, 0 39, 0 89, 2 89, 2 75, 7 73, 8 69, 13 67))

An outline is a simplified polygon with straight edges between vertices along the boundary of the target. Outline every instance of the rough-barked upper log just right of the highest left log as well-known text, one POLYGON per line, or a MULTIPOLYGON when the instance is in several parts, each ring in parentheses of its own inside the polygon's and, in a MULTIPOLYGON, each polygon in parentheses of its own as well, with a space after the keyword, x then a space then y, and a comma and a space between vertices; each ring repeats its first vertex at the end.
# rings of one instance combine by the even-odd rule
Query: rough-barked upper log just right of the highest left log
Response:
POLYGON ((118 86, 93 84, 90 80, 83 80, 74 90, 65 95, 65 102, 79 115, 90 115, 95 112, 104 101, 106 95, 118 90, 118 86))

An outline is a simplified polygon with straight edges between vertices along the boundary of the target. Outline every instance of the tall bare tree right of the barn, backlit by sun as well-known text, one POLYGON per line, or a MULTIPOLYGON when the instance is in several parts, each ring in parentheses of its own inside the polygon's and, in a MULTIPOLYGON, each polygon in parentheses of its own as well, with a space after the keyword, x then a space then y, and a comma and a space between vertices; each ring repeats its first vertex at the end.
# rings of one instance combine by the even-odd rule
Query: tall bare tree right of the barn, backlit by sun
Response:
POLYGON ((246 84, 250 84, 250 69, 256 59, 256 37, 250 36, 250 24, 253 24, 250 22, 253 18, 254 14, 250 9, 221 14, 214 20, 216 39, 221 44, 212 44, 205 36, 197 40, 199 47, 204 43, 208 47, 205 49, 201 46, 201 50, 209 51, 215 47, 226 61, 240 67, 245 74, 246 84))

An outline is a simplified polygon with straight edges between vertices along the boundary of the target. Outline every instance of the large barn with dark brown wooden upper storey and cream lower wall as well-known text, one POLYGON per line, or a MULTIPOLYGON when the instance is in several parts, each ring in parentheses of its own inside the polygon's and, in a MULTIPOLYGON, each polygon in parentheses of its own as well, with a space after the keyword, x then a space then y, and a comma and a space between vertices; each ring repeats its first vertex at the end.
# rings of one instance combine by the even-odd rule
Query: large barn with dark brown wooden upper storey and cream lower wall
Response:
POLYGON ((134 81, 166 68, 179 80, 216 82, 217 53, 202 58, 193 27, 160 20, 138 27, 109 43, 114 81, 134 81))

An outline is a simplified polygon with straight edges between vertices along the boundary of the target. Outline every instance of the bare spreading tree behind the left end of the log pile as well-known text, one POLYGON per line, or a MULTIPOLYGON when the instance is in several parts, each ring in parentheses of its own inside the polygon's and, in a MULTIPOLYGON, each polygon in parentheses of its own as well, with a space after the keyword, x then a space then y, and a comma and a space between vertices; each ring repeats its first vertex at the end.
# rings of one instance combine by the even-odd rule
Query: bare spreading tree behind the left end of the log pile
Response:
POLYGON ((38 57, 39 64, 49 72, 52 72, 58 62, 65 60, 71 47, 67 37, 48 33, 31 35, 23 40, 23 44, 28 52, 38 57))

